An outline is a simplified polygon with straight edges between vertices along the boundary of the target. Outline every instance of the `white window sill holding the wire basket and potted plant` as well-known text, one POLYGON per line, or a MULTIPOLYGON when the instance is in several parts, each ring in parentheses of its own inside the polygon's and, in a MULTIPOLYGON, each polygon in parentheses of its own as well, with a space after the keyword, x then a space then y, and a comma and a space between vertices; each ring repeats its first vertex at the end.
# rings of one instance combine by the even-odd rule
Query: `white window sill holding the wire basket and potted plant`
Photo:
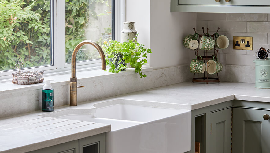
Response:
MULTIPOLYGON (((104 78, 110 78, 110 77, 115 77, 115 76, 130 75, 130 74, 134 74, 135 73, 134 71, 135 71, 134 68, 127 68, 125 71, 120 71, 119 73, 111 73, 108 71, 97 69, 97 70, 76 72, 76 77, 78 79, 78 82, 91 81, 91 80, 104 79, 104 78)), ((153 71, 153 68, 142 67, 141 72, 148 72, 148 71, 153 71)), ((54 86, 68 85, 70 77, 71 77, 71 72, 66 73, 66 74, 60 74, 60 75, 45 76, 43 78, 44 80, 54 79, 54 81, 51 81, 51 85, 54 87, 54 86)), ((22 90, 28 91, 28 90, 42 89, 44 83, 45 81, 43 83, 37 83, 37 84, 32 84, 32 85, 17 85, 17 84, 13 84, 12 79, 11 79, 9 82, 0 83, 0 94, 8 94, 8 93, 13 93, 13 92, 19 92, 22 90)))

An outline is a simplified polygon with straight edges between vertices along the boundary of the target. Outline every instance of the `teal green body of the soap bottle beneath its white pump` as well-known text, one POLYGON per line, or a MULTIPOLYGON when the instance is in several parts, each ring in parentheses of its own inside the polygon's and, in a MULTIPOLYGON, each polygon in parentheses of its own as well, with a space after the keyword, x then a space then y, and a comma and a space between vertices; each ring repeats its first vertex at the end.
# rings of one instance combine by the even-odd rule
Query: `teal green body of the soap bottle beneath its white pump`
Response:
POLYGON ((51 112, 54 111, 54 90, 42 89, 42 111, 51 112))

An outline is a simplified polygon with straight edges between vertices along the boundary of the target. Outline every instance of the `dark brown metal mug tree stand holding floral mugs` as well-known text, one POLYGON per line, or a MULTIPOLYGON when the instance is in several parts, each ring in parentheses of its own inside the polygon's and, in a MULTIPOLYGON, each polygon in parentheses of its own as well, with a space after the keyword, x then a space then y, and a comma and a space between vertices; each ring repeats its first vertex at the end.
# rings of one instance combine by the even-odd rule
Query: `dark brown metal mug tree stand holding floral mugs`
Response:
MULTIPOLYGON (((193 28, 193 29, 194 29, 194 31, 196 33, 195 28, 193 28)), ((220 28, 217 28, 217 31, 216 32, 218 32, 219 29, 220 28)), ((207 32, 206 33, 208 33, 208 30, 209 29, 207 28, 207 32)), ((202 31, 203 31, 203 34, 205 34, 204 33, 204 27, 202 27, 202 31)), ((203 35, 200 35, 199 34, 199 40, 200 40, 200 37, 202 37, 202 36, 203 35)), ((210 35, 210 36, 213 37, 213 39, 215 39, 214 38, 214 35, 210 35)), ((198 56, 198 53, 199 53, 198 48, 197 48, 197 50, 194 49, 194 52, 195 52, 195 55, 198 56)), ((194 73, 194 77, 192 79, 192 82, 206 82, 206 84, 208 84, 209 82, 220 82, 220 80, 218 78, 218 73, 216 73, 217 78, 214 78, 214 77, 208 77, 208 72, 207 72, 207 70, 208 70, 208 68, 207 68, 207 62, 208 62, 208 60, 212 59, 213 56, 217 56, 217 53, 218 53, 218 50, 215 47, 214 47, 214 55, 212 55, 212 56, 209 56, 208 55, 208 50, 204 50, 204 56, 202 56, 202 60, 206 64, 206 67, 205 67, 205 71, 203 73, 203 77, 195 78, 195 73, 194 73)), ((200 57, 197 57, 197 59, 198 58, 201 59, 200 57)))

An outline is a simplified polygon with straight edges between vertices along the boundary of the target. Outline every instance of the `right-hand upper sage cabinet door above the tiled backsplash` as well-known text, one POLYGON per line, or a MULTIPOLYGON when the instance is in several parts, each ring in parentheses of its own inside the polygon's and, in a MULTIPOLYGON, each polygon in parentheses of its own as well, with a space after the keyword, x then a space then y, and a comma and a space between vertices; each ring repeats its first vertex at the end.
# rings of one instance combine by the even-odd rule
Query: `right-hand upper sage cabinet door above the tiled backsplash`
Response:
POLYGON ((225 2, 225 5, 250 5, 250 6, 269 6, 269 0, 231 0, 230 2, 225 2))

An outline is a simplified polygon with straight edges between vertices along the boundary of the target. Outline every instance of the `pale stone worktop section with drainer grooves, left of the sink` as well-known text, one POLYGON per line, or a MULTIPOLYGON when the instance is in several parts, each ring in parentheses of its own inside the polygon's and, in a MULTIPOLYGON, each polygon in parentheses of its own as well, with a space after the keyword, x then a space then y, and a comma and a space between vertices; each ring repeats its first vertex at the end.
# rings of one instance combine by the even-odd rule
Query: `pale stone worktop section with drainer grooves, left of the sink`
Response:
POLYGON ((27 113, 0 120, 0 152, 22 153, 111 131, 111 125, 27 113))

